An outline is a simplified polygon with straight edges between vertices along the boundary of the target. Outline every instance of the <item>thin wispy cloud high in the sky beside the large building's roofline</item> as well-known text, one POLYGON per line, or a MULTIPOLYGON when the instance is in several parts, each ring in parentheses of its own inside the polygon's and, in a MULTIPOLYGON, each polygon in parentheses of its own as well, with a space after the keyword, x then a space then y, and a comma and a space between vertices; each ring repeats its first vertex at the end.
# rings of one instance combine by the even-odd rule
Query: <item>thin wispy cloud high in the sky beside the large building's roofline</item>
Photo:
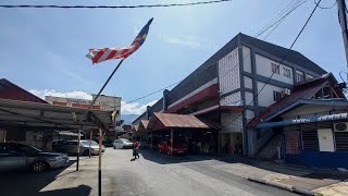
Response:
POLYGON ((184 47, 189 47, 198 50, 217 50, 219 49, 217 45, 212 44, 207 39, 194 37, 194 36, 158 35, 158 38, 171 45, 181 45, 184 47))

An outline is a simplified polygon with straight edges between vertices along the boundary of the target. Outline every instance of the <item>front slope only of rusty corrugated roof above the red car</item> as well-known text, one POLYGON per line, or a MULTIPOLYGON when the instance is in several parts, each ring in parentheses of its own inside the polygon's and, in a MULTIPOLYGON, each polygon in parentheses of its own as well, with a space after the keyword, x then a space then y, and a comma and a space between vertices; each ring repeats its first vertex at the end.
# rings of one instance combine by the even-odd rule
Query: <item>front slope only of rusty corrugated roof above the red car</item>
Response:
POLYGON ((153 113, 165 127, 211 128, 195 115, 175 113, 153 113))

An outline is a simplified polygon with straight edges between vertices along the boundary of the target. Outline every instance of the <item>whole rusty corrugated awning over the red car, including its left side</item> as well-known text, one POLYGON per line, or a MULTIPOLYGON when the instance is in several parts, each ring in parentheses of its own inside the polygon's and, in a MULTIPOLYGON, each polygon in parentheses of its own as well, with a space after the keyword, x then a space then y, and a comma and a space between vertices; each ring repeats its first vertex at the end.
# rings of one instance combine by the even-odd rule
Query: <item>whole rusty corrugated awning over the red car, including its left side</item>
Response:
POLYGON ((200 121, 195 115, 176 114, 176 113, 157 113, 150 119, 148 128, 151 130, 170 130, 170 128, 214 128, 200 121))

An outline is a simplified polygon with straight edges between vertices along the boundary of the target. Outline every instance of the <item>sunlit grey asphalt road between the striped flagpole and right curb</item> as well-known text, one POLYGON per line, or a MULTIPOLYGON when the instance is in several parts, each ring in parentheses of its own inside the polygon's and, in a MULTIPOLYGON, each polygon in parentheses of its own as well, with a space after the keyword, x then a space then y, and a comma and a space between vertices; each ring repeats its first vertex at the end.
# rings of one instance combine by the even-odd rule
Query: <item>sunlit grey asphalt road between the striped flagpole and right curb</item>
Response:
POLYGON ((169 157, 141 150, 108 149, 103 156, 103 195, 294 195, 216 169, 209 157, 169 157))

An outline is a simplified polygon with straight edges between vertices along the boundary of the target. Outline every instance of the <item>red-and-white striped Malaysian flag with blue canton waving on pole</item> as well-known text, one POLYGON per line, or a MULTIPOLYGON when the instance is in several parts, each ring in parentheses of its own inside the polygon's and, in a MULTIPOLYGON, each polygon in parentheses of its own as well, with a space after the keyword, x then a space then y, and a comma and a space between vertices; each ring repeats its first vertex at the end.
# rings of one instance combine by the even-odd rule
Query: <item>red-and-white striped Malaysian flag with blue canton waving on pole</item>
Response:
POLYGON ((153 17, 142 27, 140 33, 134 39, 130 46, 124 48, 102 48, 102 49, 89 49, 89 52, 86 54, 88 59, 91 59, 92 63, 100 63, 110 59, 126 59, 133 52, 144 44, 150 24, 152 23, 153 17))

